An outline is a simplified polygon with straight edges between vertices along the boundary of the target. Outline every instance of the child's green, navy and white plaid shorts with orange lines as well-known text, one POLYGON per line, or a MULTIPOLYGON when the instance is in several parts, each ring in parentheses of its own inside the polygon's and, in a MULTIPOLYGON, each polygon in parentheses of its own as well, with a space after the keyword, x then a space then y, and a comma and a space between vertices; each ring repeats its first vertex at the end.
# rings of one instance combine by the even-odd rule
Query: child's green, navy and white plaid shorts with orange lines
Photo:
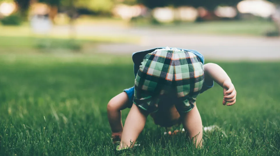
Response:
POLYGON ((157 49, 147 54, 140 65, 133 103, 152 113, 158 110, 158 104, 165 104, 164 97, 174 95, 171 98, 178 112, 188 112, 194 107, 203 82, 203 64, 195 54, 157 49))

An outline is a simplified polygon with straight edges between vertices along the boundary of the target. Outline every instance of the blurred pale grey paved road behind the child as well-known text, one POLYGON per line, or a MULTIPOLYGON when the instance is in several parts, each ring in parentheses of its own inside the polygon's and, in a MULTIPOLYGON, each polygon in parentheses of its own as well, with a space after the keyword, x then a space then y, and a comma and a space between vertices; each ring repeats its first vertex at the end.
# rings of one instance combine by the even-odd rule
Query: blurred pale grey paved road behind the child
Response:
MULTIPOLYGON (((65 30, 56 27, 58 32, 65 30)), ((83 36, 137 36, 137 44, 100 44, 99 52, 128 53, 154 47, 195 49, 208 59, 280 60, 280 38, 190 35, 168 29, 125 27, 118 25, 78 26, 76 33, 83 36)))

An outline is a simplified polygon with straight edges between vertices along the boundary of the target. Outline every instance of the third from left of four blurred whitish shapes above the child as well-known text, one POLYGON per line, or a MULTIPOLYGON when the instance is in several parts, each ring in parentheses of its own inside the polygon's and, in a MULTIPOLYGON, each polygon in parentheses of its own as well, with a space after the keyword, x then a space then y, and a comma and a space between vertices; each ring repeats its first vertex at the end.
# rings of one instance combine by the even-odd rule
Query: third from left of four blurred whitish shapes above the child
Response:
POLYGON ((175 10, 175 19, 181 20, 181 21, 195 21, 198 17, 198 10, 194 7, 179 7, 175 10))

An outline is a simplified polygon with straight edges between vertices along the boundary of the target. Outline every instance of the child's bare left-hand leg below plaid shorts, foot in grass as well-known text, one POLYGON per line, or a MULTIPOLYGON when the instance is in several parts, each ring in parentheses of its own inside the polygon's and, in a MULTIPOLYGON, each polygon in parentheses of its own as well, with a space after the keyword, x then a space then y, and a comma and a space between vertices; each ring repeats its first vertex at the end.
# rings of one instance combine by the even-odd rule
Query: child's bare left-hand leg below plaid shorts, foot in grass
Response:
POLYGON ((148 113, 141 110, 135 104, 132 105, 123 128, 123 135, 120 141, 120 149, 132 148, 137 137, 144 129, 148 113), (131 144, 132 143, 132 144, 131 144))

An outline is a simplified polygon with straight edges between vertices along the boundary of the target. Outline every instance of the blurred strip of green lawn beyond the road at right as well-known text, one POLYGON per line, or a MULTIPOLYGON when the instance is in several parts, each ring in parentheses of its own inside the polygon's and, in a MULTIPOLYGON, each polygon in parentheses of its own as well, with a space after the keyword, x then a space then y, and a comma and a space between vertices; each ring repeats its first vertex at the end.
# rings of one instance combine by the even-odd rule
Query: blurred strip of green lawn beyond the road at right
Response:
POLYGON ((157 30, 187 33, 187 34, 216 34, 216 35, 243 35, 243 36, 264 36, 267 31, 276 31, 273 22, 264 20, 240 20, 240 21, 211 21, 180 24, 163 24, 150 26, 136 24, 141 27, 151 27, 157 30))

